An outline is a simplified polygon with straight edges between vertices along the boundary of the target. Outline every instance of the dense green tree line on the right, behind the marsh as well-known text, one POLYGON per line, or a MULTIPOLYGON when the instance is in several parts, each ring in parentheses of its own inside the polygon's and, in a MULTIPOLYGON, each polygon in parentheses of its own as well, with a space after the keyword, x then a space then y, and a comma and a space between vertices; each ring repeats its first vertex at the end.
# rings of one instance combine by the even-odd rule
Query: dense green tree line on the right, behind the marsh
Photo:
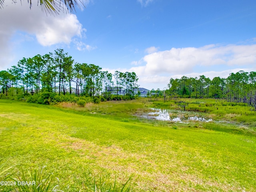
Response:
POLYGON ((239 71, 228 78, 204 75, 170 79, 166 94, 180 98, 221 98, 227 102, 247 103, 256 107, 256 72, 239 71))

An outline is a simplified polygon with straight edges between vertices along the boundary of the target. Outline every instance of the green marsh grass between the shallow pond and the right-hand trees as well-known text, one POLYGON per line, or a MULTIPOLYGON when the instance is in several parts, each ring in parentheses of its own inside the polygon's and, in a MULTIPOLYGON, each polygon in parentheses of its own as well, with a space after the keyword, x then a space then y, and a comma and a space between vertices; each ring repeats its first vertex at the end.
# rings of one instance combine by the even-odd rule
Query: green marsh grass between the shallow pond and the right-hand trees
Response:
POLYGON ((149 104, 152 108, 173 109, 177 112, 184 110, 180 105, 185 105, 186 111, 202 112, 204 116, 213 120, 248 126, 253 132, 256 132, 256 111, 247 104, 229 103, 216 99, 180 99, 169 102, 156 101, 149 104), (181 101, 183 103, 180 103, 181 101))

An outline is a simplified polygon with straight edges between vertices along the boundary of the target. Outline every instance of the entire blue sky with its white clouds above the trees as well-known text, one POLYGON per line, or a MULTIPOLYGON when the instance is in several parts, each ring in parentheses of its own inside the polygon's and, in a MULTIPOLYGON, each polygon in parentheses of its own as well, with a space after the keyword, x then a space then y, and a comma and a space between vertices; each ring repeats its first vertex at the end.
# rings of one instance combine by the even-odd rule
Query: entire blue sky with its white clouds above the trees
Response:
POLYGON ((36 4, 0 10, 0 70, 63 48, 76 62, 136 72, 148 89, 183 75, 256 71, 254 0, 87 0, 56 16, 36 4))

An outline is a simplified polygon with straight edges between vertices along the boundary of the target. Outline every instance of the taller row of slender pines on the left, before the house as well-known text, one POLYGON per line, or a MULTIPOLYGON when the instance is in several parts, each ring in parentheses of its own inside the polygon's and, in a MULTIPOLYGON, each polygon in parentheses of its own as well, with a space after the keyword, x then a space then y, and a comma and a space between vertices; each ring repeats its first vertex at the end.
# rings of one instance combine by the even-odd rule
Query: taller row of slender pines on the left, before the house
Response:
POLYGON ((134 97, 138 77, 135 72, 111 74, 94 64, 74 62, 63 49, 57 49, 43 56, 22 58, 16 66, 0 71, 0 87, 6 96, 15 87, 23 94, 68 93, 110 100, 113 95, 134 97))

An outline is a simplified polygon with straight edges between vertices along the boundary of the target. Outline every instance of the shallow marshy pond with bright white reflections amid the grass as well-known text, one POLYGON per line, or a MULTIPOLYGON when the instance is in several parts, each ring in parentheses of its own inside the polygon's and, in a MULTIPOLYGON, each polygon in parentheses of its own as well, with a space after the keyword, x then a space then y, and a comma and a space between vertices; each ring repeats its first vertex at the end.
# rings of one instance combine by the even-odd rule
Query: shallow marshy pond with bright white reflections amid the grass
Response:
POLYGON ((141 114, 141 118, 156 119, 162 121, 172 121, 187 123, 189 121, 200 121, 200 122, 210 122, 212 119, 204 117, 201 113, 190 112, 190 111, 180 111, 180 110, 168 110, 168 109, 156 109, 151 108, 154 112, 141 114))

